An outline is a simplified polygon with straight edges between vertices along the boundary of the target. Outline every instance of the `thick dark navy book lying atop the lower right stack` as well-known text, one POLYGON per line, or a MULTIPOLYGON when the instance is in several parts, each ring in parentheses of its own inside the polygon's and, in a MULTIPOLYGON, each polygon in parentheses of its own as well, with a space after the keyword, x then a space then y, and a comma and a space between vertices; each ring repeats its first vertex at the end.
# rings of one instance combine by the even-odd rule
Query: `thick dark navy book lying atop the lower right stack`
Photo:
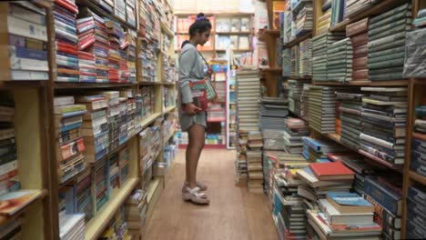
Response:
POLYGON ((389 192, 369 177, 365 179, 364 192, 393 215, 401 215, 401 197, 389 192))

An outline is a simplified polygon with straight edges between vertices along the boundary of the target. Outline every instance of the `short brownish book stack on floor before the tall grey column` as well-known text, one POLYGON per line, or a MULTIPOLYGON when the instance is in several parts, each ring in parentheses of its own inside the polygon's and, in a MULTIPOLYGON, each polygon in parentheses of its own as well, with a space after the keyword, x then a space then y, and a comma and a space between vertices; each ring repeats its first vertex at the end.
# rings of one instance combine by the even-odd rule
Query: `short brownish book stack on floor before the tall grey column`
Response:
POLYGON ((261 150, 247 150, 247 168, 249 174, 249 192, 263 193, 263 169, 261 150))

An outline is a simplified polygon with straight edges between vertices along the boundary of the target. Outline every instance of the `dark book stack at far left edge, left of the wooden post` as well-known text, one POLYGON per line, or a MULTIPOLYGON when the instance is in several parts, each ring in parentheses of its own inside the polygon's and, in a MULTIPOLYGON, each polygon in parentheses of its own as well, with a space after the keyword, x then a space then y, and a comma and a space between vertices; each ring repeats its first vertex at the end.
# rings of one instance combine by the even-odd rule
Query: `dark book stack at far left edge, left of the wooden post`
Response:
POLYGON ((21 188, 18 176, 17 149, 15 144, 15 103, 0 99, 0 169, 5 177, 1 180, 0 195, 21 188))

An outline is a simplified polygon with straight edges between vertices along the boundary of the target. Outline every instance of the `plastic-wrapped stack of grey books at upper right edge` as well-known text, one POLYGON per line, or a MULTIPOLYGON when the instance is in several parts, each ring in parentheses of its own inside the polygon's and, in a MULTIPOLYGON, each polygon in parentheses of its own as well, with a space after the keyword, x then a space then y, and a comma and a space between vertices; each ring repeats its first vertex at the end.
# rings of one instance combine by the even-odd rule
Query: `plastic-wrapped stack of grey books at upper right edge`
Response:
POLYGON ((423 61, 421 53, 424 48, 424 42, 421 39, 423 39, 425 34, 424 28, 407 33, 404 77, 426 76, 421 65, 423 61))

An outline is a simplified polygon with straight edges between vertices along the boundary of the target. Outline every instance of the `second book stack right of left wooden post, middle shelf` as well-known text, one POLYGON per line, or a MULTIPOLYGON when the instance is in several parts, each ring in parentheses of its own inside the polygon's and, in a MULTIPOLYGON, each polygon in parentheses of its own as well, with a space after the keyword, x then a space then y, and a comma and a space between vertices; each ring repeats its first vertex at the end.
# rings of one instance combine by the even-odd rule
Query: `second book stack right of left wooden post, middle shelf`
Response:
POLYGON ((85 158, 87 163, 95 163, 109 152, 108 103, 105 95, 76 96, 76 103, 86 105, 82 127, 85 158))

